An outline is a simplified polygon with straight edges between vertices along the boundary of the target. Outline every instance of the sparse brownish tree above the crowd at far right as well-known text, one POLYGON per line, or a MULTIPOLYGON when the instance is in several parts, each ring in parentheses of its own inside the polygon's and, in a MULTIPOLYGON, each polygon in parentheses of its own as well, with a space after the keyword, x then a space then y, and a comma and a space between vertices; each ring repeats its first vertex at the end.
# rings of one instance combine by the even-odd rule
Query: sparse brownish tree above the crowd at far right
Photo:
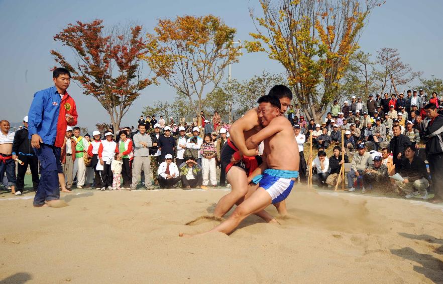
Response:
POLYGON ((409 64, 401 61, 400 54, 395 48, 382 48, 377 51, 377 69, 374 76, 381 93, 392 90, 396 94, 397 86, 405 85, 419 78, 422 72, 413 72, 409 64))

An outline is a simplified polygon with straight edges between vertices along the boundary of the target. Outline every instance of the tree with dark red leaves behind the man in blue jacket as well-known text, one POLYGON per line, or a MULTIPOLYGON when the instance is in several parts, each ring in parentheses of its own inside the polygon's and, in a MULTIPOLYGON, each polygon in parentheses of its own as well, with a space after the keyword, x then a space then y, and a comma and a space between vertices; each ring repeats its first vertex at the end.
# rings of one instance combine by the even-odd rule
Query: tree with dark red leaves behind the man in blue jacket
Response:
POLYGON ((142 27, 118 25, 105 31, 102 20, 77 21, 57 34, 54 41, 74 53, 74 58, 68 60, 51 50, 55 61, 71 72, 83 93, 94 97, 109 114, 114 129, 119 129, 140 91, 155 82, 155 78, 143 76, 140 65, 140 57, 147 53, 142 27))

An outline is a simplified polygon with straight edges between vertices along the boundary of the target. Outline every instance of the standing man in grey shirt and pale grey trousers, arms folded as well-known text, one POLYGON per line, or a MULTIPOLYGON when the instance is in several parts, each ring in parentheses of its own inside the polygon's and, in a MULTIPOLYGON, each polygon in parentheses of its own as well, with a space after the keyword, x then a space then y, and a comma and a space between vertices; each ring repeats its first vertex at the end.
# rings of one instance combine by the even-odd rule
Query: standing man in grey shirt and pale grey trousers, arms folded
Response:
POLYGON ((149 157, 149 148, 152 147, 151 136, 146 133, 146 126, 139 124, 139 132, 134 135, 134 159, 132 164, 132 184, 131 190, 137 188, 141 172, 145 175, 146 189, 153 189, 151 178, 151 158, 149 157))

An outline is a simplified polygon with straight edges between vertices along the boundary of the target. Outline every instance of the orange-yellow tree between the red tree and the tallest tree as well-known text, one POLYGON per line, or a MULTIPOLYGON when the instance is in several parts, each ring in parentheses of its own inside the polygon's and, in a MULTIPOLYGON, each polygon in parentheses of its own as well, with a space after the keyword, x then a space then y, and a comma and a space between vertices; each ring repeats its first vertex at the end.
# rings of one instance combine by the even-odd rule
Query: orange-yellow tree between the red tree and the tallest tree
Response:
POLYGON ((147 34, 145 59, 156 76, 187 97, 199 114, 204 95, 222 80, 229 63, 237 62, 241 46, 234 46, 236 29, 214 16, 183 16, 159 20, 147 34))

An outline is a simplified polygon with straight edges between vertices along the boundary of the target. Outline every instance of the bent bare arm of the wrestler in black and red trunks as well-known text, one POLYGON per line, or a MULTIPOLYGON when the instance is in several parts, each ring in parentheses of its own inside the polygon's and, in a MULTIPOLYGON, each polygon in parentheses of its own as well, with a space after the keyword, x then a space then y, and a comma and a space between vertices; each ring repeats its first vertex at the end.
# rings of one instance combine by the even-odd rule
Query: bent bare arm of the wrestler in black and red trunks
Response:
POLYGON ((257 109, 254 108, 250 111, 248 111, 243 117, 239 118, 229 129, 229 134, 231 137, 231 140, 233 140, 236 147, 240 150, 241 156, 255 156, 256 155, 256 148, 249 148, 246 147, 246 141, 245 141, 245 131, 250 130, 248 129, 251 124, 254 124, 255 121, 257 121, 257 109), (232 139, 234 138, 234 139, 232 139), (250 150, 251 149, 251 150, 250 150))

